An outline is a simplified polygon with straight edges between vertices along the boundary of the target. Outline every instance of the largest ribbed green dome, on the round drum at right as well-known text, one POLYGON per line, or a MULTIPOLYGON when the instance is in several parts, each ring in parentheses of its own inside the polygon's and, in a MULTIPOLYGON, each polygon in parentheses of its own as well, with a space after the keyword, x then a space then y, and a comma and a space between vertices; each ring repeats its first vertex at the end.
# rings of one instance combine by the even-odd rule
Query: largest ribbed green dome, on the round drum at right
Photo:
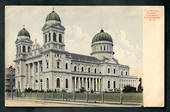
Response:
POLYGON ((92 39, 92 43, 98 42, 98 41, 113 42, 112 37, 108 33, 104 32, 103 29, 101 29, 101 31, 99 33, 97 33, 92 39))

